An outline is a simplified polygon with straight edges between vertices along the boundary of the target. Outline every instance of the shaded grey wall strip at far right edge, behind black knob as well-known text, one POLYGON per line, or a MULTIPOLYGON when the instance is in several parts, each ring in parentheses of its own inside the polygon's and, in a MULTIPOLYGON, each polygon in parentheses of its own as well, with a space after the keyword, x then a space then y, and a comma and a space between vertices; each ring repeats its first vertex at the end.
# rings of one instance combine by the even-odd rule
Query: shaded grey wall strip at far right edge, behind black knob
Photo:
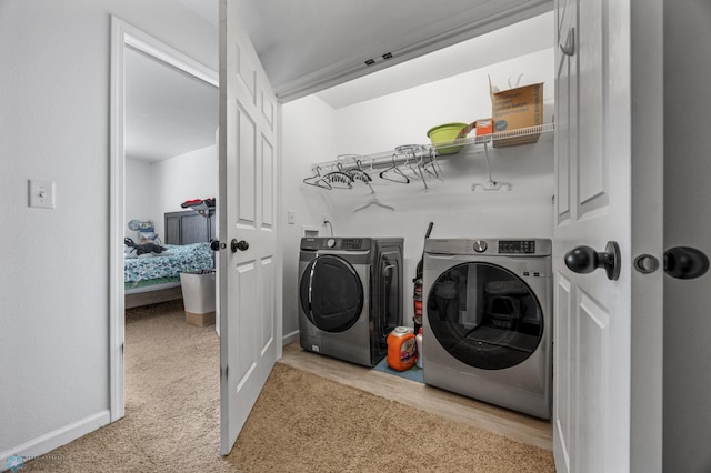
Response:
MULTIPOLYGON (((711 256, 711 4, 664 2, 664 248, 711 256), (704 53, 699 54, 699 51, 704 53)), ((664 278, 664 471, 711 471, 711 274, 664 278)))

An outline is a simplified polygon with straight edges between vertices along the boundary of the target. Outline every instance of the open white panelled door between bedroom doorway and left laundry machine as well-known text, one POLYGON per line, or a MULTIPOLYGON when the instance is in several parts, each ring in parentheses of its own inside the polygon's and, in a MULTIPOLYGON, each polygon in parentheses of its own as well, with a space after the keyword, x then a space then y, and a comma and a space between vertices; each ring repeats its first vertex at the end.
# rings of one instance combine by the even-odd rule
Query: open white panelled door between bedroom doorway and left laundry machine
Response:
POLYGON ((277 100, 236 3, 220 2, 220 401, 228 454, 281 353, 277 100))

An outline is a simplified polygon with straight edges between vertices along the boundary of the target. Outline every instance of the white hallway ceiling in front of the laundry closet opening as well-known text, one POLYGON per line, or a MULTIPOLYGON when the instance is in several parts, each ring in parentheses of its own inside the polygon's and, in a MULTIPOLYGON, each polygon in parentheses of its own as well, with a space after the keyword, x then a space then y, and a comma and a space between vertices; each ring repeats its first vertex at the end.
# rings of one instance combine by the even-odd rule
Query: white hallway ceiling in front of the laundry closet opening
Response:
MULTIPOLYGON (((178 1, 217 27, 218 0, 178 1)), ((236 3, 281 101, 311 94, 553 8, 552 0, 236 0, 236 3), (392 57, 385 60, 383 54, 392 57), (367 66, 368 60, 373 63, 367 66)), ((552 31, 550 34, 552 38, 552 31)))

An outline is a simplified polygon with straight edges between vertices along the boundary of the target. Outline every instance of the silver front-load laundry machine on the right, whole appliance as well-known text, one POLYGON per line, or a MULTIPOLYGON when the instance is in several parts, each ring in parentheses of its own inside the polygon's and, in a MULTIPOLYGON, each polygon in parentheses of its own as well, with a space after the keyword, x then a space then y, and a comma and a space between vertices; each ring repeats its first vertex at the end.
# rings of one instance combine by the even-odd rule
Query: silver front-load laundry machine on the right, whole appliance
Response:
POLYGON ((428 239, 427 384, 551 417, 551 241, 428 239))

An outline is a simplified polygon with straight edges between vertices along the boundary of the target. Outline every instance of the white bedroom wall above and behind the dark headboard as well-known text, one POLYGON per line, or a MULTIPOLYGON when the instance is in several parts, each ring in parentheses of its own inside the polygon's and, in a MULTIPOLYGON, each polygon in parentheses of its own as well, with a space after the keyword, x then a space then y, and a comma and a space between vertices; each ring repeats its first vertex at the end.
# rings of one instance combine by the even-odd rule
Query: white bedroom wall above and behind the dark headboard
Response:
POLYGON ((156 162, 151 165, 151 219, 156 232, 166 240, 166 212, 187 210, 180 204, 191 199, 217 198, 217 145, 156 162))

